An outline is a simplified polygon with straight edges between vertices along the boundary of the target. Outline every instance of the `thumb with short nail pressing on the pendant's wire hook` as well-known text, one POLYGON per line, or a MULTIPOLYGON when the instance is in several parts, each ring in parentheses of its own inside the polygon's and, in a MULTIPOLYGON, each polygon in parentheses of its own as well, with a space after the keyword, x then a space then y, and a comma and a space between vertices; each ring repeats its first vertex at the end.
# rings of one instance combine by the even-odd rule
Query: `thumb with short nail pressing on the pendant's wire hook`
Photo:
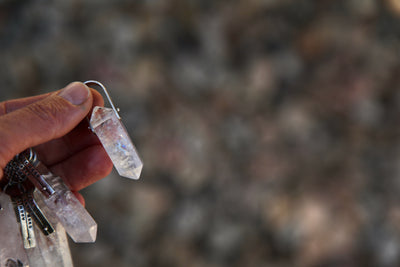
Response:
POLYGON ((0 117, 0 177, 21 151, 70 132, 92 107, 92 94, 80 82, 0 117))

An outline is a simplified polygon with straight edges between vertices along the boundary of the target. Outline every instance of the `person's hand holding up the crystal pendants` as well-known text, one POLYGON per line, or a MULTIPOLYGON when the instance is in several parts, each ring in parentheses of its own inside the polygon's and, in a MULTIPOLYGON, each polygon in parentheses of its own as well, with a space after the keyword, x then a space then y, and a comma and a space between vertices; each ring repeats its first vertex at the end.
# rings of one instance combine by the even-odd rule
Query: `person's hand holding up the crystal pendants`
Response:
POLYGON ((0 184, 6 164, 33 147, 54 174, 77 193, 107 176, 112 162, 85 117, 103 98, 83 83, 63 90, 0 103, 0 184))

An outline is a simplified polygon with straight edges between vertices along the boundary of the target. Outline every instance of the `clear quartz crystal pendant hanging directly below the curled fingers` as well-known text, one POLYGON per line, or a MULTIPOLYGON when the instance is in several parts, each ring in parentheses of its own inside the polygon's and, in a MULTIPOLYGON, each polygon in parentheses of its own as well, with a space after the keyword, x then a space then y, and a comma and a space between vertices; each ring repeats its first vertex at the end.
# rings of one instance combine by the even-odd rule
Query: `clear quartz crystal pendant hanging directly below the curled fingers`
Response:
POLYGON ((63 180, 51 173, 41 162, 38 162, 36 168, 55 191, 49 197, 35 191, 35 199, 38 204, 40 205, 39 202, 42 201, 47 206, 48 217, 56 217, 74 242, 91 243, 96 241, 97 223, 63 180))

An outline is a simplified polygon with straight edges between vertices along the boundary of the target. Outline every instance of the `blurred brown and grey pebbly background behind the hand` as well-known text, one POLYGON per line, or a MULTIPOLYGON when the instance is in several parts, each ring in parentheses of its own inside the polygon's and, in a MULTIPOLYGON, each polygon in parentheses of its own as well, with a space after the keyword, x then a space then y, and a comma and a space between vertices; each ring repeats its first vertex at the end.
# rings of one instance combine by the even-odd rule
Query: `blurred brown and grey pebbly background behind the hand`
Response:
POLYGON ((144 161, 76 266, 399 266, 400 1, 0 3, 0 99, 104 83, 144 161))

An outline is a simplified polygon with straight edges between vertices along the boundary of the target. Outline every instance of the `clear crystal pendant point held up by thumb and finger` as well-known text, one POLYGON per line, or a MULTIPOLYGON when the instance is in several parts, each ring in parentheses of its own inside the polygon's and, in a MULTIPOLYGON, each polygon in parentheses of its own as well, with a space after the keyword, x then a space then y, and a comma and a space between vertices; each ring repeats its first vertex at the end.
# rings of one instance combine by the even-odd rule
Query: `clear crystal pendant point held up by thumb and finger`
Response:
POLYGON ((90 126, 100 139, 119 175, 139 179, 143 168, 142 160, 114 110, 94 107, 90 126))

